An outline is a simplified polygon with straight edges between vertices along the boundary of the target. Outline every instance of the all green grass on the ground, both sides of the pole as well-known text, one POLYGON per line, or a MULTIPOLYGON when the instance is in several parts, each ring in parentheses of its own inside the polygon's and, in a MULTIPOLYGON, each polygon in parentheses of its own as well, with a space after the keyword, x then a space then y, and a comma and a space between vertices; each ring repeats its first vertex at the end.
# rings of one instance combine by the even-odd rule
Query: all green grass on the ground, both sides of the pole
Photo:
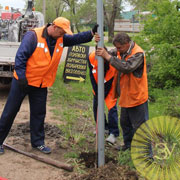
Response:
MULTIPOLYGON (((64 83, 63 68, 64 64, 61 64, 56 81, 50 89, 52 92, 51 105, 54 107, 54 114, 63 122, 59 125, 63 131, 63 143, 70 147, 64 156, 71 159, 80 172, 82 167, 81 165, 78 166, 77 162, 79 153, 95 150, 96 146, 93 136, 95 123, 92 110, 92 87, 88 71, 85 82, 64 83)), ((180 114, 180 87, 170 90, 150 89, 149 91, 150 119, 161 115, 175 115, 177 117, 180 114)), ((118 139, 122 141, 122 133, 118 139)), ((112 149, 108 149, 108 151, 106 152, 112 153, 112 149)), ((134 168, 129 151, 114 153, 113 155, 116 156, 120 165, 134 168)))

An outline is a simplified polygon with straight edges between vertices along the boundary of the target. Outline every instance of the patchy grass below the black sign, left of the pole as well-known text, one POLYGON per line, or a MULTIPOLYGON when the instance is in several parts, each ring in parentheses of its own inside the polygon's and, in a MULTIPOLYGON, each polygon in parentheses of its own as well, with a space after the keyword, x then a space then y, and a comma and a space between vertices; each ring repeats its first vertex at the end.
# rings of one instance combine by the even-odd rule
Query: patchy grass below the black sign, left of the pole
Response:
POLYGON ((92 87, 89 78, 89 71, 85 82, 63 81, 64 63, 60 64, 56 81, 51 87, 51 104, 59 107, 53 111, 61 117, 63 122, 59 128, 69 142, 74 146, 85 146, 86 137, 84 131, 87 128, 87 119, 93 119, 92 110, 92 87), (85 102, 89 102, 86 104, 85 102), (79 121, 79 122, 77 122, 79 121), (82 123, 79 127, 79 123, 82 123), (78 126, 78 127, 77 127, 78 126), (78 130, 77 130, 78 129, 78 130))

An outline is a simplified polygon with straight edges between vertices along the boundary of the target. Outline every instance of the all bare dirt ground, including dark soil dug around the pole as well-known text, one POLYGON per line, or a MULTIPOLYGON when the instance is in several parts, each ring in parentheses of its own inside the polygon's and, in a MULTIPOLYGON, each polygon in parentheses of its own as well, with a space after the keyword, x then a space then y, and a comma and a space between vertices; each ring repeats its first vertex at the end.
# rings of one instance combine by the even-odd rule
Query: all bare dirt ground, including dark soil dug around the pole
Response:
MULTIPOLYGON (((9 86, 0 86, 0 114, 5 105, 8 92, 9 86)), ((76 142, 69 139, 68 143, 64 145, 65 137, 57 127, 57 125, 60 125, 62 122, 60 121, 60 117, 54 116, 51 111, 52 107, 49 104, 50 96, 48 96, 45 120, 45 142, 52 149, 50 155, 44 155, 31 147, 28 98, 25 98, 5 143, 25 152, 34 153, 64 163, 70 163, 64 158, 64 154, 73 151, 72 146, 76 142)), ((83 110, 84 107, 85 105, 79 105, 76 108, 83 110)), ((70 173, 5 149, 5 154, 0 156, 0 177, 7 178, 8 180, 137 180, 138 175, 135 171, 130 170, 127 166, 119 166, 117 160, 113 157, 106 156, 105 166, 97 168, 97 153, 90 152, 90 150, 95 149, 95 137, 89 138, 88 135, 88 132, 93 132, 92 122, 90 122, 88 118, 76 118, 78 124, 77 127, 73 127, 73 130, 76 132, 86 132, 85 137, 88 142, 87 149, 89 152, 84 152, 84 147, 78 149, 79 161, 77 162, 84 166, 83 170, 86 172, 85 174, 79 174, 77 171, 70 173), (84 122, 90 125, 84 125, 84 122)), ((106 151, 114 155, 117 154, 117 152, 113 152, 114 149, 111 146, 106 145, 105 148, 106 151)))

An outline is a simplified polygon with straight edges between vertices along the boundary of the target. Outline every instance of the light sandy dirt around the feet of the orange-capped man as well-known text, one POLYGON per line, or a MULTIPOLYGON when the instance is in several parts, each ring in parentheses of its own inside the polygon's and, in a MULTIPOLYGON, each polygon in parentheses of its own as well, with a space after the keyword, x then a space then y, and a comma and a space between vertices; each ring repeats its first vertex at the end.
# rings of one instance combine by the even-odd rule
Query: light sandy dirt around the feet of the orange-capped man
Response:
MULTIPOLYGON (((6 103, 9 89, 9 86, 0 86, 0 114, 6 103)), ((31 147, 28 98, 24 99, 5 143, 25 152, 66 162, 63 154, 68 150, 61 147, 62 133, 56 126, 60 124, 60 122, 57 118, 53 118, 53 114, 50 111, 49 98, 47 104, 45 141, 46 144, 52 148, 50 155, 44 155, 31 147)), ((0 156, 0 177, 7 178, 8 180, 68 180, 70 174, 71 173, 67 173, 62 169, 26 157, 9 149, 5 149, 5 154, 0 156)))

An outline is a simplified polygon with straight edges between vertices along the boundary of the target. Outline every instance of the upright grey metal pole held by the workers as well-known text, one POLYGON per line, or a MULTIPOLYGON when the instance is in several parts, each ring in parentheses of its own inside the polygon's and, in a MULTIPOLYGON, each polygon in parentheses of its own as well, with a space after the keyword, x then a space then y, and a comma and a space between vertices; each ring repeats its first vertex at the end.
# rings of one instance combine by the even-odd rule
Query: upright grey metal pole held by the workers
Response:
MULTIPOLYGON (((97 23, 98 34, 101 40, 98 42, 98 47, 104 47, 103 35, 103 1, 97 0, 97 23)), ((104 60, 97 56, 98 59, 98 167, 104 166, 104 60)))

